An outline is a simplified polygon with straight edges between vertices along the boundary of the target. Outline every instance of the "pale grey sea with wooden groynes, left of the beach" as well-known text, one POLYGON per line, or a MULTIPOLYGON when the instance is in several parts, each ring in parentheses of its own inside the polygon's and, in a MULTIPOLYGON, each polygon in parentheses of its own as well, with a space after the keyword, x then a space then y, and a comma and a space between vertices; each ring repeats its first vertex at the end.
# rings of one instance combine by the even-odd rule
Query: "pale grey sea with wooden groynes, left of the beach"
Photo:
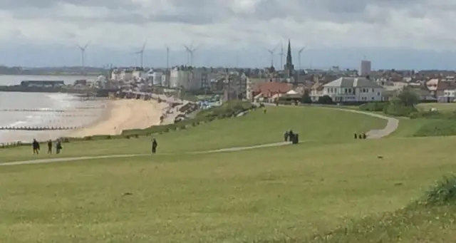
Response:
MULTIPOLYGON (((14 76, 0 75, 0 86, 21 81, 95 80, 93 76, 14 76)), ((0 128, 66 127, 83 128, 96 123, 107 113, 105 100, 87 100, 67 93, 0 92, 0 128)), ((30 143, 70 135, 71 130, 0 130, 1 143, 30 143)))

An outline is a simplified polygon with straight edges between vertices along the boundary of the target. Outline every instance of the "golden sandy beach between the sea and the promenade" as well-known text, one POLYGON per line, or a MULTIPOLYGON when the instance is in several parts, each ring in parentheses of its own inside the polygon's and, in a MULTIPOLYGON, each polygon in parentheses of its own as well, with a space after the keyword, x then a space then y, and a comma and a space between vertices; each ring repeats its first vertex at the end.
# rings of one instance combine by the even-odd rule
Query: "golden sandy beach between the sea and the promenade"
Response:
POLYGON ((167 103, 157 100, 108 100, 107 113, 88 128, 74 130, 68 136, 119 135, 123 130, 160 125, 160 116, 167 103))

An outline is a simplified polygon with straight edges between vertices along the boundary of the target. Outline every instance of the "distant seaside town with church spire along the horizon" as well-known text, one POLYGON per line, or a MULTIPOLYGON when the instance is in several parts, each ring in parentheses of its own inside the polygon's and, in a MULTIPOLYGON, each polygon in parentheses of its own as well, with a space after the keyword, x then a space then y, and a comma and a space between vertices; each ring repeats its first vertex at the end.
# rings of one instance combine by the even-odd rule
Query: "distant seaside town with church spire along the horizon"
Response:
POLYGON ((358 69, 333 66, 328 70, 295 68, 289 43, 283 66, 267 68, 223 68, 172 66, 144 67, 0 67, 0 74, 83 75, 71 87, 105 90, 151 91, 155 88, 198 94, 220 94, 224 100, 293 100, 309 95, 316 102, 329 96, 336 103, 389 100, 404 87, 413 88, 423 101, 456 101, 456 71, 371 70, 371 61, 360 61, 358 69), (98 77, 91 80, 91 77, 98 77))

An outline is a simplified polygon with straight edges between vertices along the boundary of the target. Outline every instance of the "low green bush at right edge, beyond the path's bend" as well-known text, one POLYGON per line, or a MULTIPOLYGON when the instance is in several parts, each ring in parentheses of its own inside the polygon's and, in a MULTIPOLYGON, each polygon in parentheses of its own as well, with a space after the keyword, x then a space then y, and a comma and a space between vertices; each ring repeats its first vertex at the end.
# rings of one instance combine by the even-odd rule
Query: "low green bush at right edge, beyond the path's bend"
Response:
POLYGON ((456 135, 455 120, 432 120, 421 126, 414 137, 452 136, 456 135))

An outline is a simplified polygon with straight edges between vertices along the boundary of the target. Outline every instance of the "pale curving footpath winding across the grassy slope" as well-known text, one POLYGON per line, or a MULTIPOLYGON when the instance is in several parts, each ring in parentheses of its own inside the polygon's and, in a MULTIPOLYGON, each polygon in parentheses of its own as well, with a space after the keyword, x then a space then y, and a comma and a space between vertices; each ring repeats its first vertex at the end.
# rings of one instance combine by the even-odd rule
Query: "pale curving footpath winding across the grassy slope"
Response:
MULTIPOLYGON (((362 110, 349 110, 343 108, 326 108, 326 109, 333 109, 333 110, 342 110, 346 112, 352 113, 360 113, 364 115, 371 115, 375 118, 381 118, 387 120, 386 126, 380 130, 370 130, 367 135, 369 139, 376 139, 376 138, 383 138, 391 133, 393 133, 399 126, 399 120, 397 118, 390 118, 385 115, 380 115, 376 113, 369 113, 362 110)), ((309 142, 309 141, 306 141, 309 142)), ((241 151, 241 150, 252 150, 255 148, 268 148, 268 147, 277 147, 277 146, 284 146, 289 145, 289 142, 280 142, 280 143, 268 143, 263 145, 254 145, 254 146, 244 146, 244 147, 233 147, 233 148, 222 148, 219 150, 207 150, 207 151, 199 151, 199 152, 188 152, 190 154, 204 154, 204 153, 214 153, 214 152, 233 152, 233 151, 241 151)), ((163 154, 160 154, 163 155, 163 154)), ((167 153, 165 155, 171 155, 167 153)), ((110 157, 140 157, 140 156, 150 156, 150 154, 133 154, 133 155, 100 155, 100 156, 83 156, 83 157, 57 157, 51 159, 42 159, 42 160, 24 160, 24 161, 16 161, 16 162, 0 162, 0 166, 7 166, 7 165, 29 165, 29 164, 42 164, 42 163, 50 163, 50 162, 70 162, 76 160, 93 160, 93 159, 103 159, 103 158, 110 158, 110 157)))

